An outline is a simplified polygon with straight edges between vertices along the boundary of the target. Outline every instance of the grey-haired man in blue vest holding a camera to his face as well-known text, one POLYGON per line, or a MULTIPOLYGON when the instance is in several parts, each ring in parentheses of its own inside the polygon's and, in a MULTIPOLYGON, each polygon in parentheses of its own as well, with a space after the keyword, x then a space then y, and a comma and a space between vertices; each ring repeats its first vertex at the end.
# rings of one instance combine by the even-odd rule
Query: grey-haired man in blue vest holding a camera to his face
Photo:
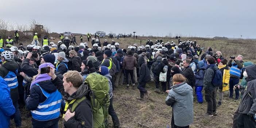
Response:
MULTIPOLYGON (((241 72, 243 68, 243 56, 238 55, 237 57, 229 57, 230 61, 228 62, 228 66, 230 67, 230 79, 229 79, 229 98, 233 98, 233 88, 234 85, 239 83, 239 79, 241 77, 241 72), (232 62, 234 60, 234 62, 232 62)), ((236 97, 235 100, 239 98, 239 89, 235 88, 236 97)))

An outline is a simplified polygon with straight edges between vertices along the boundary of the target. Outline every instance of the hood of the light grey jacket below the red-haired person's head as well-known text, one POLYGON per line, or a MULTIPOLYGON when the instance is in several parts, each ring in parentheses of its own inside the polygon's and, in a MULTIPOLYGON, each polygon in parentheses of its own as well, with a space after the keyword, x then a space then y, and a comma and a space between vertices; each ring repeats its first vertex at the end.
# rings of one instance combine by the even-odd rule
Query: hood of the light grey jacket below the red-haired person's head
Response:
POLYGON ((188 93, 190 93, 190 90, 191 90, 191 88, 189 87, 190 85, 188 85, 185 82, 182 82, 180 84, 174 85, 174 87, 172 87, 172 90, 179 95, 187 95, 188 93))

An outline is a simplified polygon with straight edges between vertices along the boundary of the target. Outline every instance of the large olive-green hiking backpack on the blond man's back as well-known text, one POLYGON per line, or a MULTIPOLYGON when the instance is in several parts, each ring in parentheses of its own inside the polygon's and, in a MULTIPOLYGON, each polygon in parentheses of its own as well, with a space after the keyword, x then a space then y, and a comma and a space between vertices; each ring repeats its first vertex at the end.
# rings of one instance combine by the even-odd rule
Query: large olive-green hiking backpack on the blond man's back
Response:
POLYGON ((85 79, 90 88, 90 101, 93 109, 93 128, 105 128, 109 108, 108 79, 97 73, 90 73, 85 79))

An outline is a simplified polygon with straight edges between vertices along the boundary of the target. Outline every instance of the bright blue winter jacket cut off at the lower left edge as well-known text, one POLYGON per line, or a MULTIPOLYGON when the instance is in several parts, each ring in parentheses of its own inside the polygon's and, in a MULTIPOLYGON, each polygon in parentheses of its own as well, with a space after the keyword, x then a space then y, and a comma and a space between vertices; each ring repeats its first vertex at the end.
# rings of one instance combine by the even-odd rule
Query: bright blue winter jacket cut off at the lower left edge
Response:
POLYGON ((9 128, 10 116, 15 113, 10 89, 4 79, 0 77, 0 128, 9 128))

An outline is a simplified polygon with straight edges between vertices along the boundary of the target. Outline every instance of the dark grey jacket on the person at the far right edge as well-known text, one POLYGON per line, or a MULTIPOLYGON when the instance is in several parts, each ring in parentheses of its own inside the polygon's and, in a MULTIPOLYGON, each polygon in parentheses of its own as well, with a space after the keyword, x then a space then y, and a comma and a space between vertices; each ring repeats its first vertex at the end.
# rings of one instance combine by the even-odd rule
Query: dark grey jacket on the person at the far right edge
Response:
POLYGON ((248 77, 247 88, 239 104, 239 113, 247 114, 250 110, 256 113, 256 65, 245 67, 248 77))

